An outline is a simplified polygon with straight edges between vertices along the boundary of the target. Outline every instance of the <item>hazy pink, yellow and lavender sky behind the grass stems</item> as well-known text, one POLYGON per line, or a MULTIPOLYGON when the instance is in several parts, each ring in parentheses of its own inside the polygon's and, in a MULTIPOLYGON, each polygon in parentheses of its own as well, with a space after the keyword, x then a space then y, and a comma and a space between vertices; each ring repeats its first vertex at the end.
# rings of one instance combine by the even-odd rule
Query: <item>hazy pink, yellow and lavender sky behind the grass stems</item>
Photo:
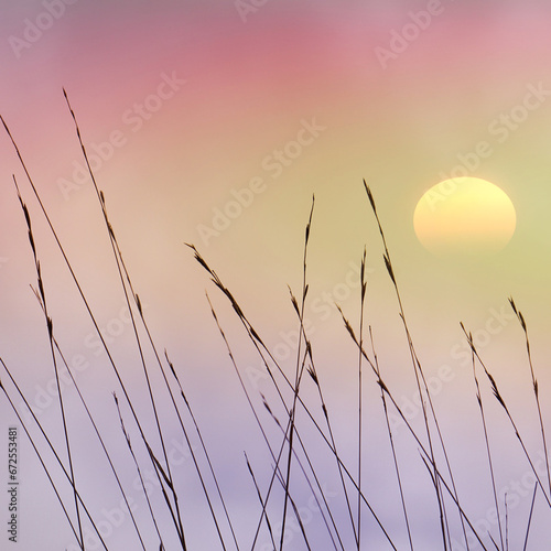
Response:
MULTIPOLYGON (((216 271, 293 378, 299 322, 288 285, 300 299, 304 228, 315 196, 304 324, 337 445, 345 464, 357 474, 358 354, 335 303, 359 334, 364 248, 364 338, 368 341, 370 326, 385 380, 423 434, 408 339, 364 180, 375 197, 408 327, 432 385, 460 497, 489 543, 484 522, 495 504, 471 353, 460 322, 473 333, 531 456, 538 457, 542 443, 525 336, 508 299, 515 299, 527 322, 543 419, 549 419, 550 10, 536 0, 2 3, 0 115, 160 453, 128 306, 66 91, 132 285, 158 349, 168 350, 185 386, 244 548, 252 541, 259 504, 242 452, 251 460, 262 491, 270 482, 271 457, 205 292, 276 449, 282 435, 261 396, 279 419, 285 412, 231 305, 185 244, 193 244, 216 271), (509 197, 516 228, 500 250, 434 255, 415 236, 418 202, 442 181, 457 176, 491 182, 509 197)), ((14 176, 32 220, 55 336, 74 360, 77 381, 136 501, 147 549, 154 549, 155 532, 111 397, 116 391, 120 398, 122 391, 3 129, 0 169, 0 357, 63 449, 47 329, 30 289, 36 287, 36 272, 14 176)), ((447 201, 447 192, 440 190, 447 201)), ((149 348, 145 356, 156 369, 149 348)), ((368 370, 363 385, 363 484, 397 547, 408 549, 396 475, 389 469, 392 456, 380 393, 374 374, 364 367, 368 370)), ((500 457, 496 468, 500 507, 507 491, 511 545, 515 541, 518 547, 530 510, 532 473, 479 365, 477 369, 491 449, 500 457)), ((219 541, 193 461, 163 393, 162 378, 154 372, 190 548, 216 549, 219 541)), ((0 372, 3 383, 7 377, 0 372)), ((301 393, 323 422, 315 386, 306 379, 301 393)), ((137 544, 128 515, 120 526, 117 516, 109 515, 120 508, 120 493, 114 488, 74 385, 64 386, 83 498, 105 521, 107 547, 128 549, 137 544)), ((15 389, 6 387, 44 449, 15 389)), ((13 424, 20 432, 20 549, 42 549, 44 540, 47 549, 77 549, 69 547, 76 540, 21 421, 1 398, 2 433, 13 424), (48 519, 37 514, 44 507, 52 511, 48 519)), ((148 468, 126 402, 122 414, 148 468)), ((298 423, 304 426, 322 482, 333 496, 345 548, 353 549, 334 458, 304 411, 300 415, 298 423)), ((418 445, 395 421, 413 542, 420 549, 436 549, 442 541, 430 477, 418 445)), ((198 436, 191 433, 192 447, 198 446, 198 436)), ((0 437, 0 453, 8 454, 6 435, 0 437)), ((56 473, 57 467, 48 465, 56 473)), ((296 466, 292 474, 300 479, 296 466)), ((74 517, 72 494, 63 488, 74 517)), ((302 479, 294 491, 312 541, 317 549, 328 549, 312 493, 302 479)), ((151 495, 163 511, 154 484, 151 495)), ((274 525, 281 521, 283 501, 278 488, 270 501, 274 525)), ((549 509, 541 491, 536 504, 532 549, 538 549, 538 538, 549 537, 544 530, 549 509)), ((0 511, 8 518, 8 504, 0 504, 0 511)), ((361 516, 363 549, 391 549, 367 508, 361 516)), ((174 545, 170 519, 160 517, 174 545)), ((498 537, 496 522, 489 525, 498 537)), ((224 530, 230 541, 226 526, 224 530)), ((293 536, 285 549, 305 549, 298 530, 289 533, 293 536)), ((8 539, 6 533, 1 537, 8 539)), ((457 518, 452 521, 452 538, 453 549, 463 549, 457 518)), ((263 528, 257 549, 270 549, 269 542, 263 528)), ((88 543, 87 549, 100 549, 91 539, 88 543)))

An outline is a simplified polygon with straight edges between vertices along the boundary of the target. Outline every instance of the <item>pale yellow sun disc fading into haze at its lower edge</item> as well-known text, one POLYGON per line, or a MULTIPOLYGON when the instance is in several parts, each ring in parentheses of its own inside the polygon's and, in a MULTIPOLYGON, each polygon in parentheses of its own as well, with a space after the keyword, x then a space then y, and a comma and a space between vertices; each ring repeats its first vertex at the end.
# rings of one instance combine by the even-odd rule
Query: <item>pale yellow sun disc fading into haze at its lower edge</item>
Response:
POLYGON ((439 255, 482 255, 501 250, 517 224, 508 195, 486 180, 456 177, 431 187, 413 214, 415 234, 439 255))

